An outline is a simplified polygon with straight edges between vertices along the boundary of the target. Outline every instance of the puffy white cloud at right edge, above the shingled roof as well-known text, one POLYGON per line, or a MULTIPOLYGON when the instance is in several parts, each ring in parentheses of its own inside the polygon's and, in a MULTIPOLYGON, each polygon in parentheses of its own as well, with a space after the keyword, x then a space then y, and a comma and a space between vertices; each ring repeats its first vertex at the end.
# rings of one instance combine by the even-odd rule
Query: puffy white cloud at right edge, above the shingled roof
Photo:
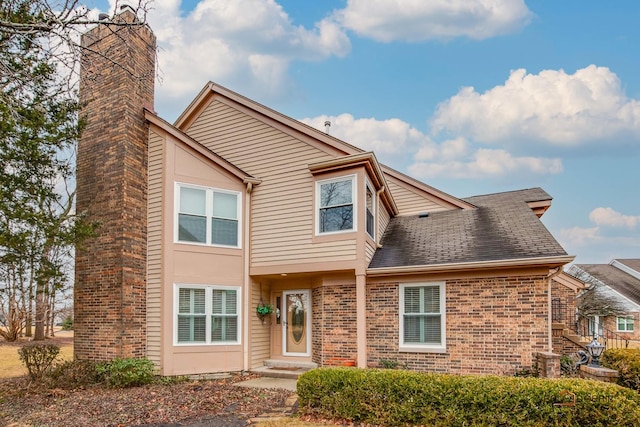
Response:
POLYGON ((431 125, 434 133, 507 145, 626 143, 629 137, 640 140, 640 101, 628 99, 606 67, 589 65, 574 74, 519 69, 504 85, 482 94, 461 89, 439 105, 431 125))

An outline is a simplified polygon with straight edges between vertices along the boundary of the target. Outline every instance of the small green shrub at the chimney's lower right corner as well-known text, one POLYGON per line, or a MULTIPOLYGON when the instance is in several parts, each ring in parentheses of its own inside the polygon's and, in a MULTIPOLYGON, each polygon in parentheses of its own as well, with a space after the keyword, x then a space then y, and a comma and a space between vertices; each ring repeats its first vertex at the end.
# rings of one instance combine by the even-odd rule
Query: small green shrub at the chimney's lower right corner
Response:
POLYGON ((99 364, 96 371, 111 388, 136 387, 154 380, 153 362, 149 359, 113 359, 99 364))

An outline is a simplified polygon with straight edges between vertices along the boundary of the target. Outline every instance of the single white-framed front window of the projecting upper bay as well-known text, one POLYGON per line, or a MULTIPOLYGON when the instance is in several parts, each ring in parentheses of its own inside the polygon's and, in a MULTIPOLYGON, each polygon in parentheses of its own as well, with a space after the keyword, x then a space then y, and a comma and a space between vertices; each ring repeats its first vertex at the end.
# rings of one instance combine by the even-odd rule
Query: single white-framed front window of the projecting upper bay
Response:
POLYGON ((356 229, 355 175, 316 182, 316 234, 356 229))

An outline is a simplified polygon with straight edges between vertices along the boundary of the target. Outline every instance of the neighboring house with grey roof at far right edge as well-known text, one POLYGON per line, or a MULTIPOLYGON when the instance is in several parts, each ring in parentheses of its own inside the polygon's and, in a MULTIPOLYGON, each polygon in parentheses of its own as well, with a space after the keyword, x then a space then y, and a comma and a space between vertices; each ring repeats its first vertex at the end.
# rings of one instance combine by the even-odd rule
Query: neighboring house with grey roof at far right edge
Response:
MULTIPOLYGON (((616 315, 601 313, 590 316, 593 322, 589 333, 602 335, 606 329, 625 339, 640 340, 640 259, 614 259, 609 264, 576 264, 569 273, 589 286, 591 294, 588 298, 595 301, 594 304, 604 301, 607 307, 603 310, 610 310, 613 306, 616 311, 621 311, 616 315)), ((587 298, 587 294, 582 298, 587 298)))

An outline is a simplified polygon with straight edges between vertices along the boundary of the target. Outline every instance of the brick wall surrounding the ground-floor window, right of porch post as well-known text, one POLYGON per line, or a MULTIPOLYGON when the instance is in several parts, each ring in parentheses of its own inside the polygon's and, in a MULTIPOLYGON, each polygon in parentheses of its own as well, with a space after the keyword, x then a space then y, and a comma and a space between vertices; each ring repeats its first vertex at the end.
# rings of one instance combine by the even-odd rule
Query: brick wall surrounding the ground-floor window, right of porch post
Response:
POLYGON ((447 280, 445 353, 399 352, 398 289, 367 285, 369 366, 388 359, 414 370, 511 375, 548 351, 546 276, 447 280))

